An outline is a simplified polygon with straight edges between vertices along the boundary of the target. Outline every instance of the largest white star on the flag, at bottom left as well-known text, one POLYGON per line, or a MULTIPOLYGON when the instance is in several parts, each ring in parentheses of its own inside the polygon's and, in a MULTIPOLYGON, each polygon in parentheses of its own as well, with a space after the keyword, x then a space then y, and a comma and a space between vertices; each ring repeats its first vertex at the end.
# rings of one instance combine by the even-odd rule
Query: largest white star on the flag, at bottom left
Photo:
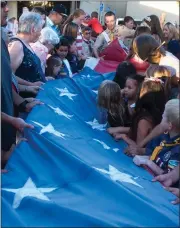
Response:
POLYGON ((52 192, 55 189, 57 188, 37 188, 34 182, 31 180, 31 178, 28 178, 28 180, 22 188, 2 188, 3 191, 15 193, 12 205, 15 209, 19 207, 21 201, 27 196, 34 197, 44 201, 50 201, 49 198, 44 195, 44 193, 52 192))

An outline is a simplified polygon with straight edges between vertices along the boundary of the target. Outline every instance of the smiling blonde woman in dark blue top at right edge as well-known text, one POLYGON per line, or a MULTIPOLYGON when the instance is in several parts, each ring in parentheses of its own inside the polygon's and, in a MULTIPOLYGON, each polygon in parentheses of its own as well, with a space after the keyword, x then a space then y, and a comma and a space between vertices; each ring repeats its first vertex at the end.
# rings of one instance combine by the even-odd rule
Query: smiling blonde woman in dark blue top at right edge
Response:
POLYGON ((180 40, 178 30, 173 24, 168 22, 164 25, 163 33, 167 42, 167 51, 180 59, 180 40))

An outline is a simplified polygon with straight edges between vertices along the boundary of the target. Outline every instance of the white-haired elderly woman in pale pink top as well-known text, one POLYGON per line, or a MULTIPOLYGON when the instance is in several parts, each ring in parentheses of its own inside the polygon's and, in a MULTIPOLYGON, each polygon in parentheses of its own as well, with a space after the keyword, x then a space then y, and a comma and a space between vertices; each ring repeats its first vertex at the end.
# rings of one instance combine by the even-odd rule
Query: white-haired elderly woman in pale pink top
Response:
POLYGON ((46 59, 48 53, 59 43, 59 37, 55 31, 49 27, 45 27, 41 30, 41 35, 36 43, 32 43, 31 47, 36 55, 41 60, 41 66, 43 72, 46 68, 46 59))

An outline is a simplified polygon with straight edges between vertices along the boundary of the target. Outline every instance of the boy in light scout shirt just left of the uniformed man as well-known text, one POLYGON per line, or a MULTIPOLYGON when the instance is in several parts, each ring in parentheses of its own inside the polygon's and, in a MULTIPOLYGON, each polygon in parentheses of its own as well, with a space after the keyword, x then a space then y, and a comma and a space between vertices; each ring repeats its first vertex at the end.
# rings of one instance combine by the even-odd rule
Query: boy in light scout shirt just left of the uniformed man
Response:
POLYGON ((83 44, 82 44, 83 53, 86 56, 86 58, 92 57, 94 41, 91 39, 91 28, 85 27, 82 32, 83 32, 83 44))

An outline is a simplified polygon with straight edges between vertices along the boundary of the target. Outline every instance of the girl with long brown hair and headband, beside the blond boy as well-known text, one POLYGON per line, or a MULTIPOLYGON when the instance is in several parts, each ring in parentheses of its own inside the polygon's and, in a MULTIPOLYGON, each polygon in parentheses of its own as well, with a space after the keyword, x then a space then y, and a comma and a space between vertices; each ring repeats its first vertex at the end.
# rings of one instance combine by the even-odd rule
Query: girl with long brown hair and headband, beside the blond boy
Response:
POLYGON ((126 135, 116 135, 116 139, 124 139, 129 145, 139 144, 161 122, 165 102, 163 82, 156 78, 146 79, 136 102, 130 131, 126 135))

